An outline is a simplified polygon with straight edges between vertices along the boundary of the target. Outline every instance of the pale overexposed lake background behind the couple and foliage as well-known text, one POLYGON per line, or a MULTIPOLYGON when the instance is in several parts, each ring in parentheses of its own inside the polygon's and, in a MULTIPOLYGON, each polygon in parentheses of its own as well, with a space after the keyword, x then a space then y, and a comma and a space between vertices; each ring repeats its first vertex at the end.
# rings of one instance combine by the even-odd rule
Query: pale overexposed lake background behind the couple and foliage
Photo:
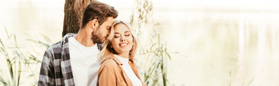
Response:
MULTIPOLYGON (((129 22, 132 0, 100 1, 119 11, 118 20, 129 22)), ((168 60, 167 64, 171 84, 228 86, 231 81, 232 86, 242 83, 246 86, 253 80, 250 86, 279 85, 278 0, 152 2, 154 10, 148 29, 152 29, 162 12, 163 17, 159 18, 162 25, 155 30, 167 42, 169 51, 188 56, 171 54, 172 61, 168 60)), ((32 45, 26 39, 38 34, 57 42, 62 38, 64 3, 63 0, 1 0, 0 22, 10 34, 16 34, 22 46, 32 45)), ((8 38, 2 25, 0 37, 8 38)), ((44 53, 44 50, 38 51, 44 53)), ((0 59, 1 69, 7 69, 5 58, 0 59)), ((29 82, 26 79, 21 83, 28 85, 29 82)))

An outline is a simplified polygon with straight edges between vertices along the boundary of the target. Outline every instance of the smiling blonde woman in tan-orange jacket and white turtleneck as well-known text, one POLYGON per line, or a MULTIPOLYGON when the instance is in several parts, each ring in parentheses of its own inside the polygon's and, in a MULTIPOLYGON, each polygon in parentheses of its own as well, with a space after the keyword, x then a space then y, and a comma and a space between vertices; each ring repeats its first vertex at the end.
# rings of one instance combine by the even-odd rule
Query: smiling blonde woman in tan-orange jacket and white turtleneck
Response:
POLYGON ((100 86, 146 86, 135 58, 138 42, 130 24, 114 21, 99 55, 102 63, 98 71, 100 86))

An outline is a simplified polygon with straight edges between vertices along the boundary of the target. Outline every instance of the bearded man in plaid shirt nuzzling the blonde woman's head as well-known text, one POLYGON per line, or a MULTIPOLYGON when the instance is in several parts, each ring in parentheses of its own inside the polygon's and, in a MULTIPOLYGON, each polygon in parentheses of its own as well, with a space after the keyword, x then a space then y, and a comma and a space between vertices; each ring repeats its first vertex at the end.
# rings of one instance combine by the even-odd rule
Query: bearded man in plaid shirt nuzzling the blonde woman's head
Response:
POLYGON ((113 20, 118 16, 114 7, 93 1, 84 12, 77 34, 66 34, 44 54, 39 86, 96 86, 102 48, 113 20))

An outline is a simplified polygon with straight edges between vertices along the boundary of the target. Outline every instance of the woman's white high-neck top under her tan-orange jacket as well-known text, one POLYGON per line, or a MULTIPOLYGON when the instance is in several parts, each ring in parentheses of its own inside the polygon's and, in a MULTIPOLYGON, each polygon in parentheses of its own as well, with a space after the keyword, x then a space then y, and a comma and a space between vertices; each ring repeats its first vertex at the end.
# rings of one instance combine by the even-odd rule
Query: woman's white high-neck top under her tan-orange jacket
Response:
POLYGON ((120 62, 122 63, 123 70, 128 75, 129 79, 132 81, 133 86, 142 86, 140 79, 136 76, 135 72, 128 63, 129 58, 123 58, 116 54, 114 54, 113 56, 120 60, 120 62))

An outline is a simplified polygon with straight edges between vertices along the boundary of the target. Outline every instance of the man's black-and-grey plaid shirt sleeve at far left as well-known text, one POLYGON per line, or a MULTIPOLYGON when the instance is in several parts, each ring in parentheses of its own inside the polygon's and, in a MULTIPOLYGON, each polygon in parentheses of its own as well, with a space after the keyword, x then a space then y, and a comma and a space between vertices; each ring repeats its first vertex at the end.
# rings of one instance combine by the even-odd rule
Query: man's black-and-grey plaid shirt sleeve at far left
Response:
POLYGON ((45 52, 40 69, 38 86, 54 86, 55 71, 52 55, 45 52))

